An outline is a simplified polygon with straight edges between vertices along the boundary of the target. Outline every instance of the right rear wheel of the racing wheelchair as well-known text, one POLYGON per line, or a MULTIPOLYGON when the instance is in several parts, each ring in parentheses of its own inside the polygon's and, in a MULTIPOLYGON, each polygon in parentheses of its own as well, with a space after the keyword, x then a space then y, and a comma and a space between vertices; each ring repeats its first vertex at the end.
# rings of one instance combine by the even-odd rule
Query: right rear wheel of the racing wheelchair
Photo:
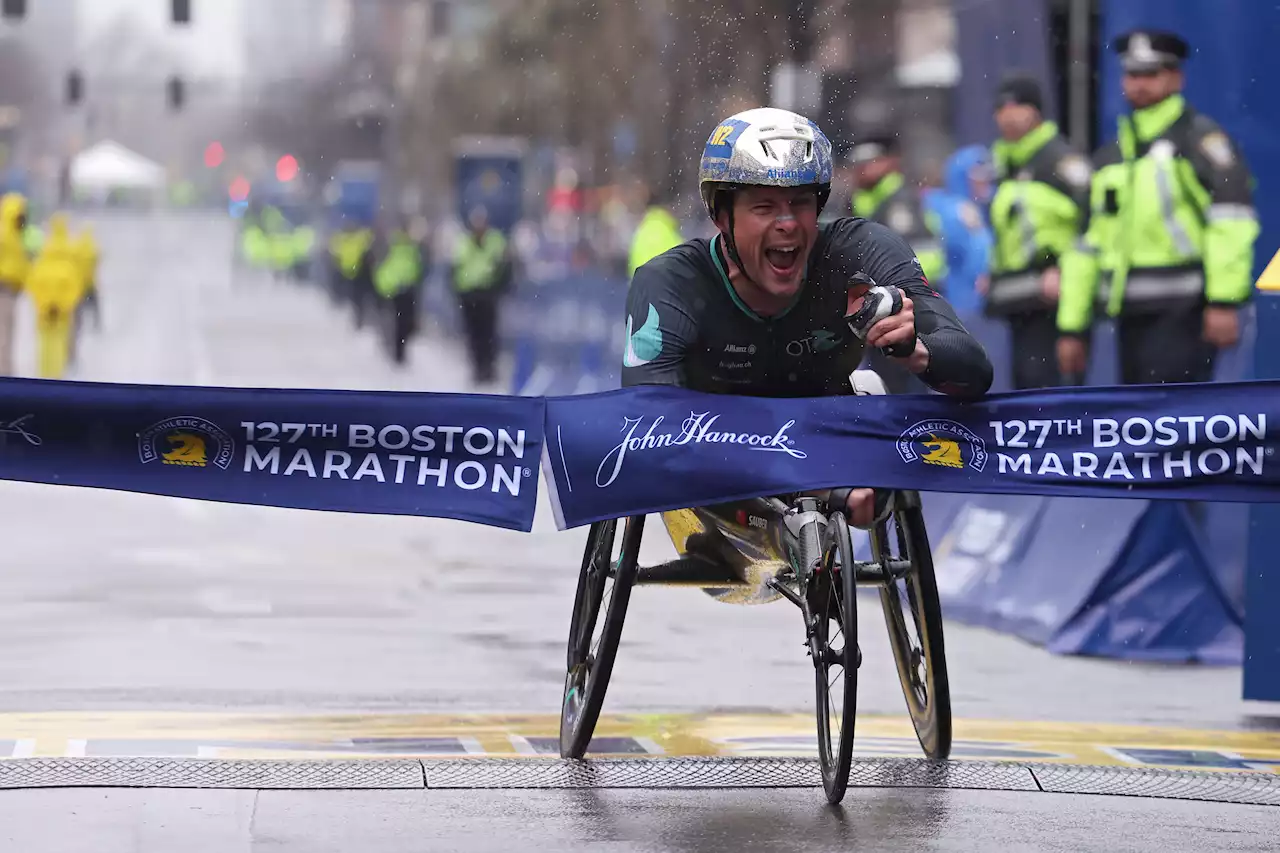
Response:
MULTIPOLYGON (((942 603, 938 601, 938 584, 933 573, 933 552, 918 498, 895 511, 892 519, 896 553, 900 558, 910 560, 911 570, 904 580, 881 588, 884 625, 915 736, 925 756, 943 760, 951 754, 951 685, 947 680, 942 603), (920 640, 918 649, 909 634, 911 624, 920 640)), ((884 548, 888 526, 886 523, 876 529, 873 547, 877 548, 877 561, 890 556, 884 548)))

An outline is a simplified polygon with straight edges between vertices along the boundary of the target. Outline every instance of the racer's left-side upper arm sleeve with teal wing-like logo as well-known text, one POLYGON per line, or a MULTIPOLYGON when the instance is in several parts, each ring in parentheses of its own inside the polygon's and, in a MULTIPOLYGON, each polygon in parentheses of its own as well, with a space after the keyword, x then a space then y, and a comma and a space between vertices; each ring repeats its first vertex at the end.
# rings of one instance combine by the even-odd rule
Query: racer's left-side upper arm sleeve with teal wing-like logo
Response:
POLYGON ((685 387, 685 355, 696 338, 696 321, 681 300, 681 282, 668 263, 657 260, 636 269, 627 291, 622 387, 685 387))

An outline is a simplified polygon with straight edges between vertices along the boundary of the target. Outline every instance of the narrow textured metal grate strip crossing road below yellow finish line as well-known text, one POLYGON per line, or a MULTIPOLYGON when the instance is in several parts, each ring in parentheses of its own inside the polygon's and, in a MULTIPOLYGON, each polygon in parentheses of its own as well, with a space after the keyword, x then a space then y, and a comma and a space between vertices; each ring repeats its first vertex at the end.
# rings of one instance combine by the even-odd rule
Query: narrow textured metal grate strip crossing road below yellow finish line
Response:
MULTIPOLYGON (((1280 775, 923 758, 855 760, 851 788, 940 788, 1108 794, 1280 806, 1280 775)), ((232 788, 285 790, 539 788, 819 788, 810 758, 461 758, 246 761, 219 758, 15 758, 0 789, 232 788)))

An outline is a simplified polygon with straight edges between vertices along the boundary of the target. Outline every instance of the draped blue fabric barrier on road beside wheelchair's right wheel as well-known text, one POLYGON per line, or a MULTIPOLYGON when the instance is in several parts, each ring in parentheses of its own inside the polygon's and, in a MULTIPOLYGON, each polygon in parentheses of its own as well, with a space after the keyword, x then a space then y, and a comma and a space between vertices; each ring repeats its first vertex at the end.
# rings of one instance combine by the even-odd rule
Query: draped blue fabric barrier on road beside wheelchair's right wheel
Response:
POLYGON ((929 493, 924 510, 948 619, 1064 654, 1242 662, 1243 619, 1179 503, 929 493))

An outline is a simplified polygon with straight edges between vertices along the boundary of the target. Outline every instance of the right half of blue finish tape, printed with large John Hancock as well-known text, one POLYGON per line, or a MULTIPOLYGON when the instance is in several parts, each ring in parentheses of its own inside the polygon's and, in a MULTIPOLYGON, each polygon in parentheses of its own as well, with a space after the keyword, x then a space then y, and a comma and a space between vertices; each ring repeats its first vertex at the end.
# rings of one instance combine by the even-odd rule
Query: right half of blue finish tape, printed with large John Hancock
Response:
POLYGON ((547 401, 561 529, 841 485, 1280 501, 1280 383, 765 400, 640 387, 547 401))

